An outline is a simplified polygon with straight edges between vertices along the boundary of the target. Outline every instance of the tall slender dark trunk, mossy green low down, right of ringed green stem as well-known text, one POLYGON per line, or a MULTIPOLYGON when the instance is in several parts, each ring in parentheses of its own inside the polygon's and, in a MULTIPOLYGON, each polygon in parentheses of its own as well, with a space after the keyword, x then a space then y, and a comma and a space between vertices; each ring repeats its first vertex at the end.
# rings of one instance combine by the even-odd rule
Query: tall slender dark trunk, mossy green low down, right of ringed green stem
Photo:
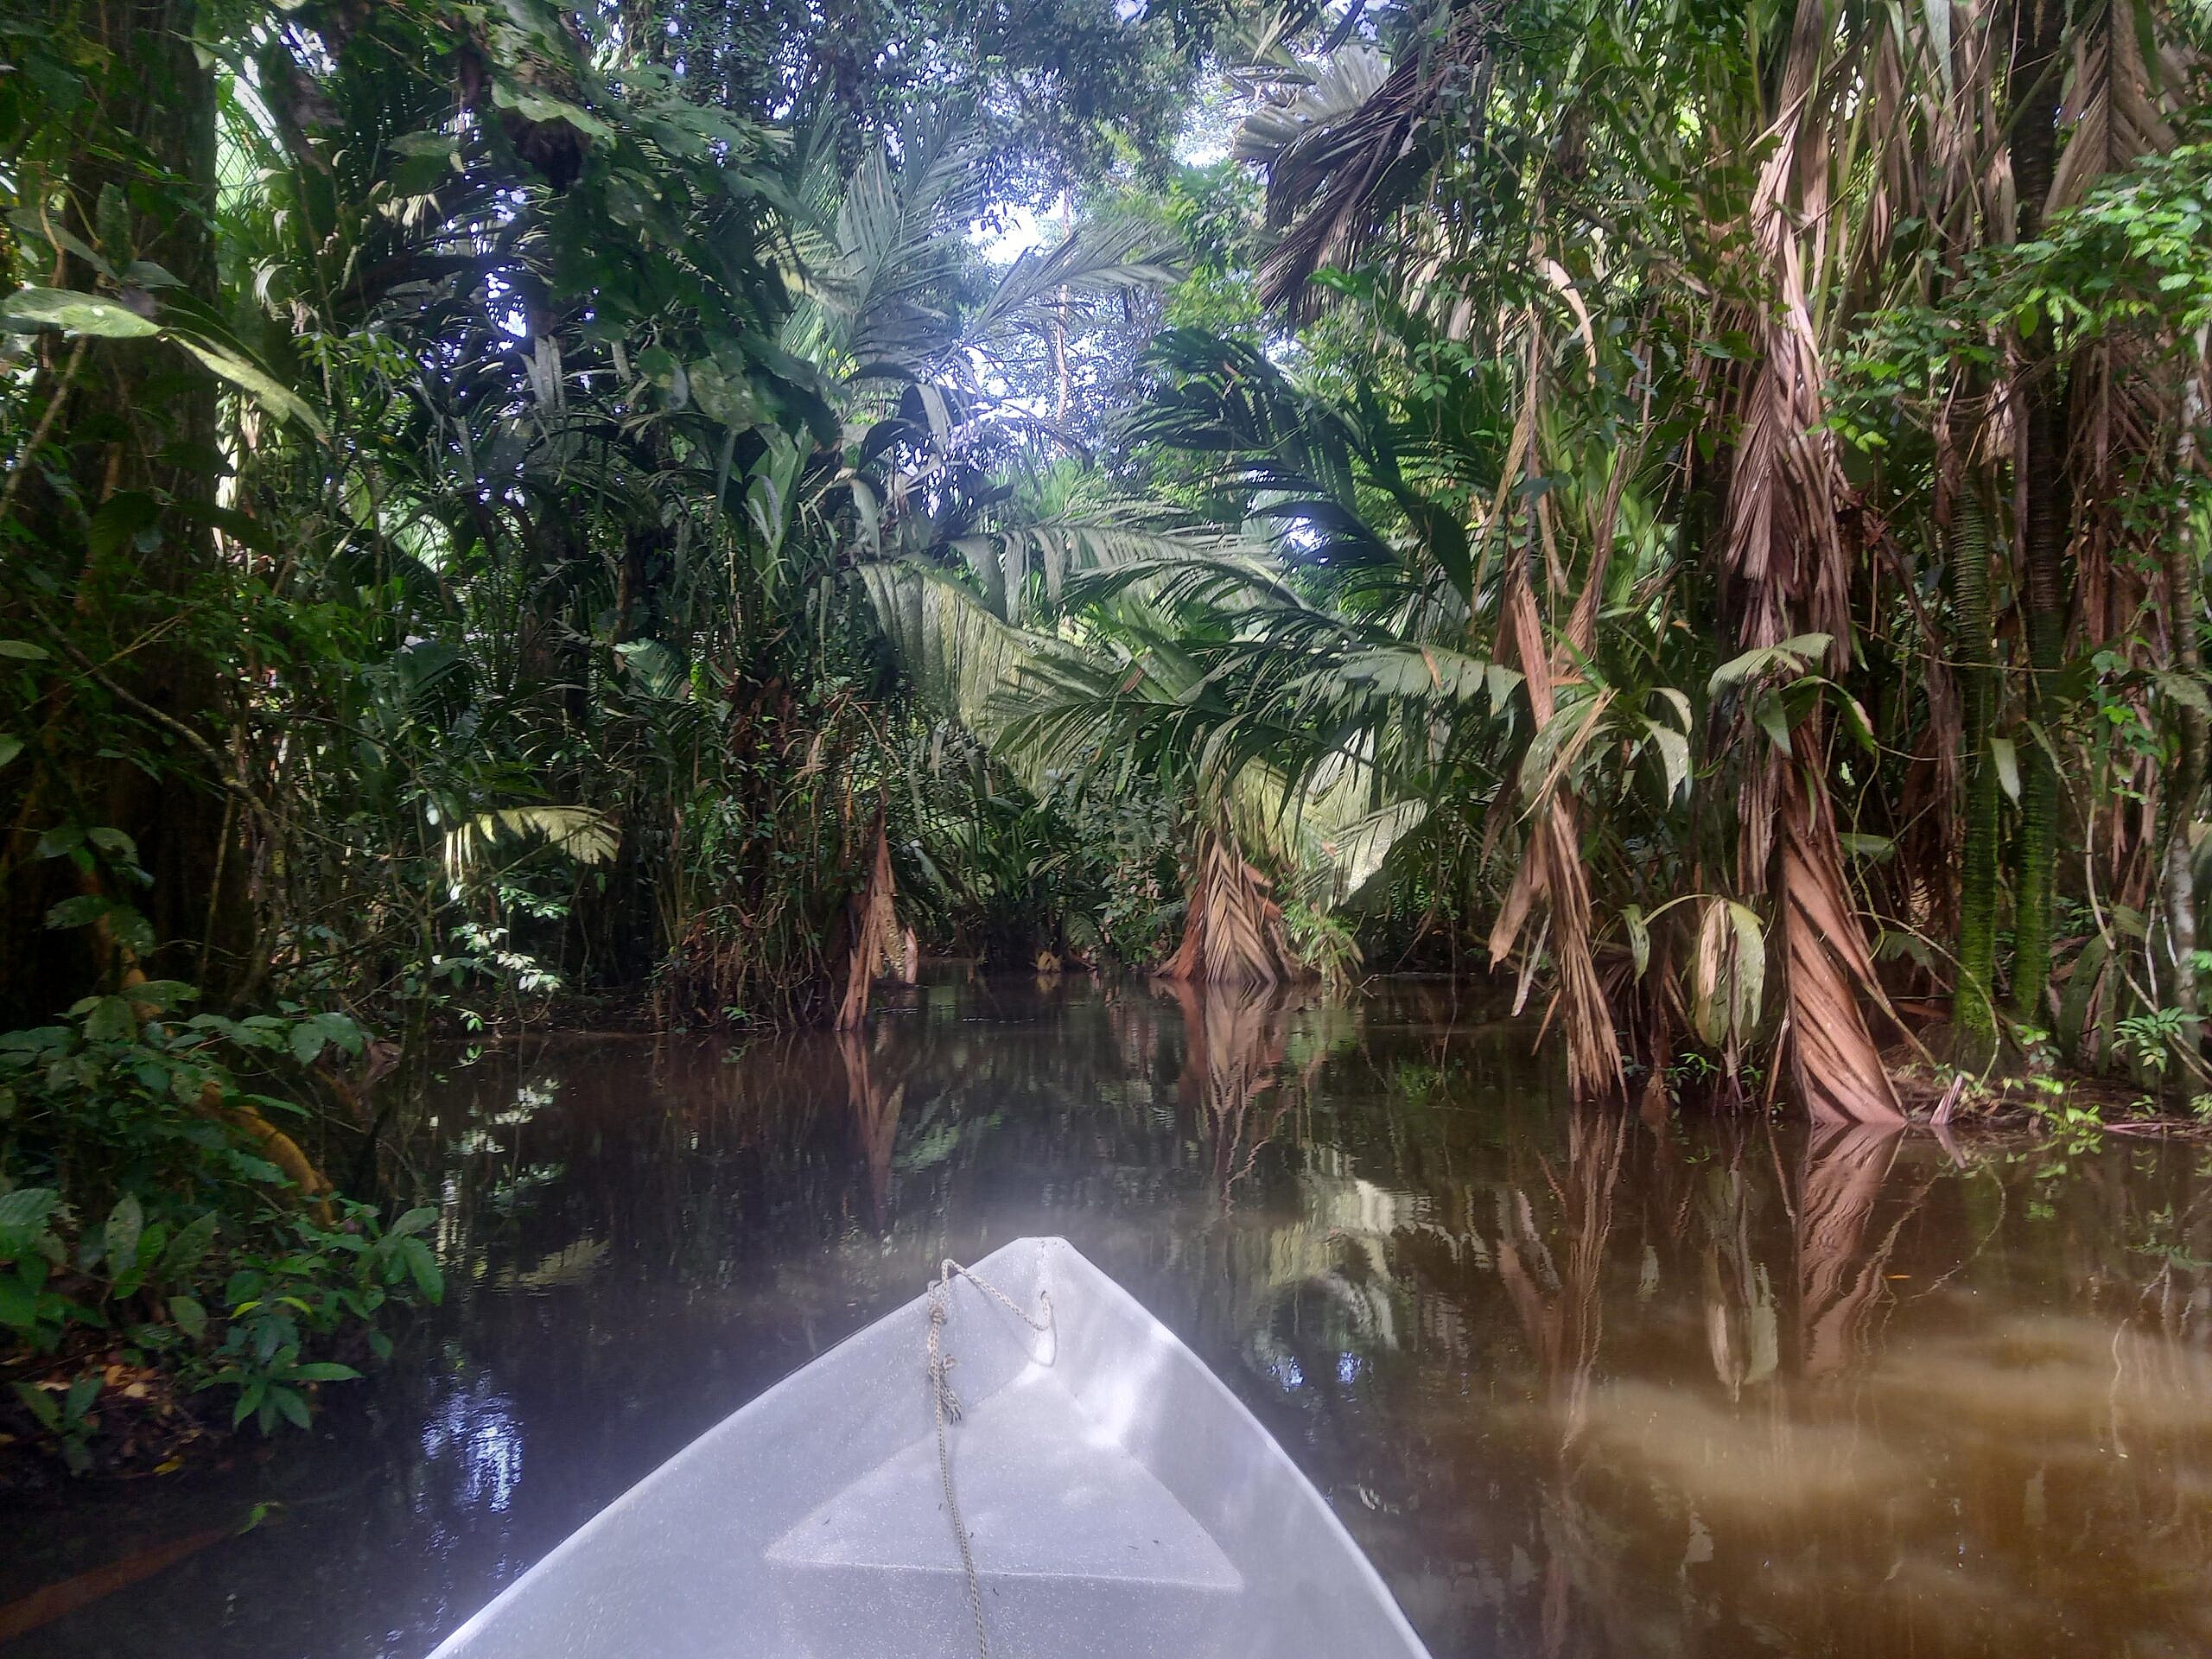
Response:
MULTIPOLYGON (((2042 232, 2044 204, 2057 161, 2059 0, 2022 0, 2013 27, 2013 188, 2020 197, 2020 237, 2042 232)), ((2028 644, 2028 732, 2020 745, 2020 843, 2013 874, 2013 1009, 2033 1026, 2048 1026, 2044 989, 2051 984, 2051 900, 2057 869, 2059 774, 2051 759, 2057 721, 2055 681, 2066 661, 2066 544, 2073 500, 2066 476, 2066 400, 2051 323, 2020 336, 2020 555, 2022 622, 2028 644)))

